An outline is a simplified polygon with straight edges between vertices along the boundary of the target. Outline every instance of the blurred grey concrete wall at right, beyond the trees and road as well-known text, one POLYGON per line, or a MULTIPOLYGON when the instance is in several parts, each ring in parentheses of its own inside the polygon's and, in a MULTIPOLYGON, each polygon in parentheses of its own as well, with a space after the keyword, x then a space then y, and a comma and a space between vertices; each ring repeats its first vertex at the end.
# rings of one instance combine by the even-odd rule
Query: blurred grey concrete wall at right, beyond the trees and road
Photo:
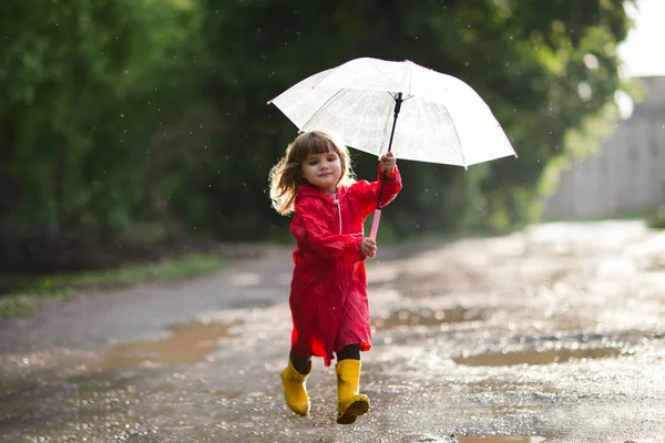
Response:
POLYGON ((665 204, 665 78, 643 78, 645 100, 598 153, 562 172, 546 219, 612 217, 665 204))

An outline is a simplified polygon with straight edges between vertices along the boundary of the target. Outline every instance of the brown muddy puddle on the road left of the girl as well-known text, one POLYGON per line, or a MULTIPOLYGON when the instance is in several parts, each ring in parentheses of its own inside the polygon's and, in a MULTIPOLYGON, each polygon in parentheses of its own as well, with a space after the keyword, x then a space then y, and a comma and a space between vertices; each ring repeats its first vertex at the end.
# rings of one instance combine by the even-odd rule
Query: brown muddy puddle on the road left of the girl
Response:
POLYGON ((165 339, 119 344, 108 349, 93 370, 117 370, 140 364, 195 364, 217 351, 235 324, 192 322, 171 328, 165 339))

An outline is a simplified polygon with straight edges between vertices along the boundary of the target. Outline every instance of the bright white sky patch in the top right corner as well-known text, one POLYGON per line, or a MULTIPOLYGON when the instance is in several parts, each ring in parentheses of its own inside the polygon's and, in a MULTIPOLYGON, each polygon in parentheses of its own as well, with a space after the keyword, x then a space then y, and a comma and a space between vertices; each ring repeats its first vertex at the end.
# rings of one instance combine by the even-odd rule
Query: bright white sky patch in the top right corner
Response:
POLYGON ((628 9, 635 27, 620 47, 631 76, 665 75, 665 0, 637 0, 637 10, 628 9))

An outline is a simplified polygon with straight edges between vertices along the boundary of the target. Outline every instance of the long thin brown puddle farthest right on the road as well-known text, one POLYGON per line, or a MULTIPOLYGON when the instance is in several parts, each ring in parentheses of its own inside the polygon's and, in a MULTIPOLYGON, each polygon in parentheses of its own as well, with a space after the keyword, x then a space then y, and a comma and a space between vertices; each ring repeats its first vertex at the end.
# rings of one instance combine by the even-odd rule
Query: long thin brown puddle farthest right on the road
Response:
POLYGON ((624 352, 615 348, 596 349, 560 349, 553 351, 529 351, 529 352, 507 352, 507 353, 483 353, 480 356, 461 357, 453 359, 457 364, 468 367, 512 367, 521 364, 551 364, 564 363, 571 360, 582 359, 606 359, 618 357, 624 352))

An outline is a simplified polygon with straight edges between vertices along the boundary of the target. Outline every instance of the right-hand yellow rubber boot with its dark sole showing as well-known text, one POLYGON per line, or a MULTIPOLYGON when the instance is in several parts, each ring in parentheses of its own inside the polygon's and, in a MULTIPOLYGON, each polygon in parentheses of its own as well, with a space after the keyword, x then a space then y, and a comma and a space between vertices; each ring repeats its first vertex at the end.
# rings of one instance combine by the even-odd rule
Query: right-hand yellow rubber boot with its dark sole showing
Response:
POLYGON ((360 384, 360 360, 341 360, 337 372, 337 423, 351 424, 358 415, 369 411, 369 399, 358 393, 360 384))

